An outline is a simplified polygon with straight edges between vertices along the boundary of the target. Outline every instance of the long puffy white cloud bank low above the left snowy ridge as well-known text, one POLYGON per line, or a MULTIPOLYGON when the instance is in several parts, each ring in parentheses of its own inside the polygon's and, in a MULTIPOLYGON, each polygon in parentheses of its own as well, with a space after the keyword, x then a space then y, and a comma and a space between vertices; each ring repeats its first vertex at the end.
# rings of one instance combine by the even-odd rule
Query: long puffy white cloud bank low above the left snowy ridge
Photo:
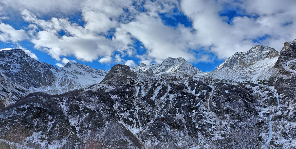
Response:
POLYGON ((60 56, 74 55, 77 59, 93 61, 98 57, 110 56, 112 52, 119 48, 119 44, 105 37, 58 37, 53 33, 39 31, 35 39, 32 40, 34 48, 44 50, 56 60, 60 56))

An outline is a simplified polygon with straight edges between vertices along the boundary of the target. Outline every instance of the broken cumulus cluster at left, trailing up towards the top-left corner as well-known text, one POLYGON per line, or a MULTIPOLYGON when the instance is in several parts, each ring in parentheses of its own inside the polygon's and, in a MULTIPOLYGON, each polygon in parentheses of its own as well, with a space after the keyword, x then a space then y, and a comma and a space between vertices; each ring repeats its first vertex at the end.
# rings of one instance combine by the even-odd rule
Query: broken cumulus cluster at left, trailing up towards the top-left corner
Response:
POLYGON ((45 51, 56 60, 61 60, 61 56, 74 55, 79 60, 91 62, 99 57, 111 56, 115 50, 129 55, 134 52, 132 47, 97 35, 94 30, 71 23, 68 19, 52 18, 45 21, 28 10, 22 11, 22 17, 32 24, 31 42, 34 48, 45 51), (37 31, 38 27, 43 30, 37 31), (61 30, 68 35, 60 36, 58 32, 61 30))

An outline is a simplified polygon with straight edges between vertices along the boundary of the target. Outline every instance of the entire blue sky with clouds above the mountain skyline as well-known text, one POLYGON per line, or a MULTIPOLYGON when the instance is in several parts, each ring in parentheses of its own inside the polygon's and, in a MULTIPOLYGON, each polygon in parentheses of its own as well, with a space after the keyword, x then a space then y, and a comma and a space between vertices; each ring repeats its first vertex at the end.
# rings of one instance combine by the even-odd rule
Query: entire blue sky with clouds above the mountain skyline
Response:
POLYGON ((55 66, 70 61, 104 70, 116 63, 132 67, 183 57, 208 72, 258 44, 281 50, 285 41, 296 38, 294 5, 219 0, 61 0, 30 5, 26 0, 4 0, 0 49, 22 48, 55 66))

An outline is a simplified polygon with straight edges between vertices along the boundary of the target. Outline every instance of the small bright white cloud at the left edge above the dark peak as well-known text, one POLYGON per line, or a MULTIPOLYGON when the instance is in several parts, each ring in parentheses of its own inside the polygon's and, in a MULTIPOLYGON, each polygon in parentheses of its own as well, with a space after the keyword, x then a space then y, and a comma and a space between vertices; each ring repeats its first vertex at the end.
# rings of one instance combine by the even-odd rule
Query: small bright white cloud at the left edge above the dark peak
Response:
POLYGON ((12 26, 0 23, 0 41, 18 42, 29 39, 25 30, 15 30, 12 26))

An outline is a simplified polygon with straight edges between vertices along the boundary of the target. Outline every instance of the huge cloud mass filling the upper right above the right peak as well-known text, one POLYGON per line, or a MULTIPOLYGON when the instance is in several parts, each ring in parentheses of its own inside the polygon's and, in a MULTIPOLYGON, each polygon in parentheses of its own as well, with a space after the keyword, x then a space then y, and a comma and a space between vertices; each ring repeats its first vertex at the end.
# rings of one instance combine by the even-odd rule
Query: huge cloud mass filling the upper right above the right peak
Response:
POLYGON ((295 38, 293 37, 296 33, 295 25, 283 26, 287 21, 296 21, 295 3, 292 1, 231 3, 234 9, 240 7, 247 13, 247 16, 234 17, 232 24, 227 24, 223 17, 219 16, 219 12, 224 9, 223 2, 225 1, 181 1, 182 11, 192 20, 193 27, 197 30, 194 39, 204 47, 209 47, 208 49, 219 58, 247 51, 258 44, 253 42, 254 39, 266 35, 268 38, 260 42, 278 51, 285 41, 295 38))

